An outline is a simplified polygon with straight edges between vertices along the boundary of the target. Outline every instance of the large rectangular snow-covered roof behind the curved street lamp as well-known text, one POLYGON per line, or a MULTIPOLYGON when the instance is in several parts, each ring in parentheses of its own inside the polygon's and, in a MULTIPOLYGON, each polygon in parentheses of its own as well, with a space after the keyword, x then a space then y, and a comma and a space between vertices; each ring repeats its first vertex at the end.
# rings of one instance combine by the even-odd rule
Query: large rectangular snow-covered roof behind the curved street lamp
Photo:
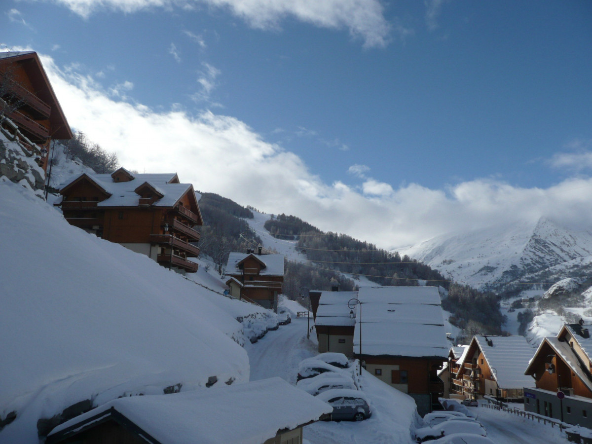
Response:
POLYGON ((362 287, 356 305, 353 351, 362 354, 447 358, 444 317, 436 287, 362 287))

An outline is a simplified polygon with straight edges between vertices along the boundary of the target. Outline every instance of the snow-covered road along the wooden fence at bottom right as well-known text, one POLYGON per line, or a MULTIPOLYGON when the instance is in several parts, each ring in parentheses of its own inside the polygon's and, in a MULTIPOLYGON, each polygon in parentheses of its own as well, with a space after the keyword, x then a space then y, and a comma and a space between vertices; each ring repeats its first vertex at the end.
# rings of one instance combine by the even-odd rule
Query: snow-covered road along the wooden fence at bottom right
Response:
POLYGON ((557 426, 538 423, 516 416, 505 411, 492 410, 485 407, 472 407, 480 421, 487 429, 487 435, 499 444, 568 444, 565 433, 557 426))

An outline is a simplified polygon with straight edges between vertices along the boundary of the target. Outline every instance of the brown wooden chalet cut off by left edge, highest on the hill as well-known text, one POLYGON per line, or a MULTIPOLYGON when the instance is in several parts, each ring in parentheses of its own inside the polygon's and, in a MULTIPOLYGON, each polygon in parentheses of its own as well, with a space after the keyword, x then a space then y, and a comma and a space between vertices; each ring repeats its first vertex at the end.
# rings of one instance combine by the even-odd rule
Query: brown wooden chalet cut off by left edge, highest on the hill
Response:
POLYGON ((46 170, 52 139, 72 131, 36 52, 0 53, 0 128, 46 170))

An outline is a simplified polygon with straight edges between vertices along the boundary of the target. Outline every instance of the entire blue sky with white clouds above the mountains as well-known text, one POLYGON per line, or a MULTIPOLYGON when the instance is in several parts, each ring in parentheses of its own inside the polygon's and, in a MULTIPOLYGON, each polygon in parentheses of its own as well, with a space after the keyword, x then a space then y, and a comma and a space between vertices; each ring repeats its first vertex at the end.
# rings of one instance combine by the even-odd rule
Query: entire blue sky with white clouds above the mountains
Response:
POLYGON ((548 217, 590 229, 588 0, 5 0, 70 126, 379 247, 548 217))

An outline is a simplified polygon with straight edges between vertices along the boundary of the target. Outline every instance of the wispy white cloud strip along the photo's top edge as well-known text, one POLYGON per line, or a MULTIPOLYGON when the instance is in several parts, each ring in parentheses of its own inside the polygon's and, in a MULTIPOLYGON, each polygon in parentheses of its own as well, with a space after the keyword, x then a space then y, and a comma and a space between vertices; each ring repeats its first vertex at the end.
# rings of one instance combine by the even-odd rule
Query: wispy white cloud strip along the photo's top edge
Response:
POLYGON ((364 46, 385 46, 390 24, 380 0, 53 0, 88 17, 99 8, 135 12, 147 8, 194 8, 200 4, 224 8, 254 28, 279 28, 287 17, 322 28, 346 28, 364 46))

